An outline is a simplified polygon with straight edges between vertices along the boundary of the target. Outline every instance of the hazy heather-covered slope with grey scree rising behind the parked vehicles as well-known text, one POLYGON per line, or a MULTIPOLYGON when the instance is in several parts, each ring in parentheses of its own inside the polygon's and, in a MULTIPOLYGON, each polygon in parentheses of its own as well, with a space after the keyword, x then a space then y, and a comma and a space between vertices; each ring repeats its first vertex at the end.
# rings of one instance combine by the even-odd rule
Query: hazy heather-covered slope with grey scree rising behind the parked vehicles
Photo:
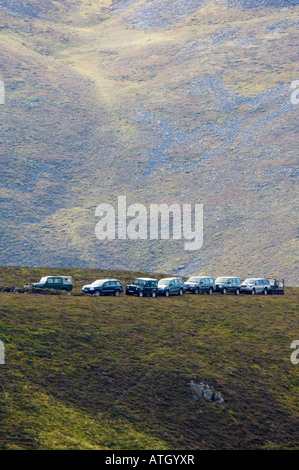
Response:
POLYGON ((0 1, 1 263, 296 284, 297 5, 0 1), (203 203, 202 250, 98 242, 118 195, 203 203))

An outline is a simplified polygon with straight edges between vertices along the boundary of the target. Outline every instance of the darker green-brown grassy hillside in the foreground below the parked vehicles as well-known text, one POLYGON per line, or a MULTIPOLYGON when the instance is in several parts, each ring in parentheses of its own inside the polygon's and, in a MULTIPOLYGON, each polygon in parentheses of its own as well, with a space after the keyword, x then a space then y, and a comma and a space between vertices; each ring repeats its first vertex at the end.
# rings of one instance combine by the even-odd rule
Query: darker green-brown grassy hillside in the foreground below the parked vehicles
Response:
MULTIPOLYGON (((136 274, 68 272, 75 293, 136 274)), ((42 273, 1 268, 1 284, 42 273)), ((0 292, 0 448, 298 448, 298 333, 296 288, 266 298, 0 292), (224 403, 192 400, 192 380, 224 403)))

